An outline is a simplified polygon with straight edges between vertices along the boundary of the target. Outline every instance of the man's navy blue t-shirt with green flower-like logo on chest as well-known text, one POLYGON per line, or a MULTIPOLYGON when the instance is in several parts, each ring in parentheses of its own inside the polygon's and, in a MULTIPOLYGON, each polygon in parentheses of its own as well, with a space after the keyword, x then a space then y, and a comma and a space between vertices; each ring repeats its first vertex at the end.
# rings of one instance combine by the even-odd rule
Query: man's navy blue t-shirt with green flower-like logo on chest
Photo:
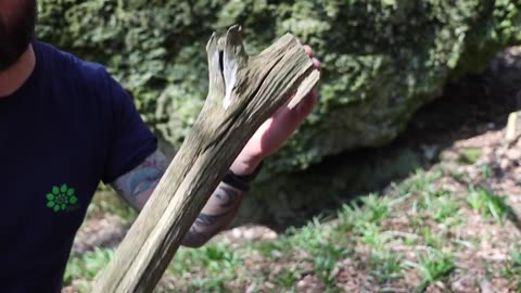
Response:
POLYGON ((0 99, 0 292, 60 292, 100 180, 156 148, 130 97, 101 66, 34 42, 36 68, 0 99))

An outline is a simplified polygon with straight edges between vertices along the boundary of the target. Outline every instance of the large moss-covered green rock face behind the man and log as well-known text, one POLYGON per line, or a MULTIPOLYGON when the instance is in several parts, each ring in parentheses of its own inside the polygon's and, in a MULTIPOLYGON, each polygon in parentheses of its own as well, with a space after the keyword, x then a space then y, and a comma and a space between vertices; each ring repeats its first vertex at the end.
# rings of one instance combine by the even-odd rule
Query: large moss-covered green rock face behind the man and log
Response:
POLYGON ((307 199, 302 206, 332 192, 335 180, 348 187, 353 177, 320 177, 313 166, 346 150, 390 142, 447 80, 483 69, 499 49, 521 42, 517 0, 40 0, 39 5, 38 36, 105 64, 170 154, 206 97, 204 46, 213 30, 242 24, 250 52, 285 31, 309 43, 323 64, 320 102, 267 162, 264 180, 250 195, 254 206, 253 199, 271 199, 264 203, 269 212, 258 218, 278 213, 281 192, 292 203, 307 199), (302 182, 294 174, 302 170, 319 182, 302 182), (281 186, 298 188, 281 191, 281 186))

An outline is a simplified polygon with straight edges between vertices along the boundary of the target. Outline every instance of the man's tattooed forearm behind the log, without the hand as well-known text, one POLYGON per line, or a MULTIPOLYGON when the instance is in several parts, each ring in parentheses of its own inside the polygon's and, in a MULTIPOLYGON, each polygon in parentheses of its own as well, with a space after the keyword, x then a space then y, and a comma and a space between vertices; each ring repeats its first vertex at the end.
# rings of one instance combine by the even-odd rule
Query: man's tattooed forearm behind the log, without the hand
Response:
MULTIPOLYGON (((156 151, 141 165, 117 178, 111 186, 134 208, 141 211, 168 167, 168 160, 156 151)), ((233 219, 242 200, 242 192, 219 183, 201 214, 193 222, 182 245, 199 247, 226 228, 233 219)))

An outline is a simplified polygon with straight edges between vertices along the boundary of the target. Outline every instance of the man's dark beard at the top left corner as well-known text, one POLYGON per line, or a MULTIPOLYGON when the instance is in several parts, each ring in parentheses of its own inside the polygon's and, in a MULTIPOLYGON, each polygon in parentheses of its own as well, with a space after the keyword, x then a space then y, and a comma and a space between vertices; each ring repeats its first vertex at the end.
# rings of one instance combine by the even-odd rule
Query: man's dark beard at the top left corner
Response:
POLYGON ((14 13, 9 23, 0 12, 0 72, 18 61, 35 36, 36 0, 23 0, 18 3, 20 11, 14 13))

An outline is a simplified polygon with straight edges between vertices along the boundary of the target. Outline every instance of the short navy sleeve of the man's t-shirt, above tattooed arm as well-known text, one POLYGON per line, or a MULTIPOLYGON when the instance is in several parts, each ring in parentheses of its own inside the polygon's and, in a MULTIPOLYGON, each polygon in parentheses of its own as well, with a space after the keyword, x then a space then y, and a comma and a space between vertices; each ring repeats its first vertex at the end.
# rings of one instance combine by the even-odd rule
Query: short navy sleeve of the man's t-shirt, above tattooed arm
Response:
POLYGON ((106 74, 110 95, 107 155, 102 175, 104 183, 139 166, 157 150, 157 139, 139 115, 132 99, 123 87, 106 74))

